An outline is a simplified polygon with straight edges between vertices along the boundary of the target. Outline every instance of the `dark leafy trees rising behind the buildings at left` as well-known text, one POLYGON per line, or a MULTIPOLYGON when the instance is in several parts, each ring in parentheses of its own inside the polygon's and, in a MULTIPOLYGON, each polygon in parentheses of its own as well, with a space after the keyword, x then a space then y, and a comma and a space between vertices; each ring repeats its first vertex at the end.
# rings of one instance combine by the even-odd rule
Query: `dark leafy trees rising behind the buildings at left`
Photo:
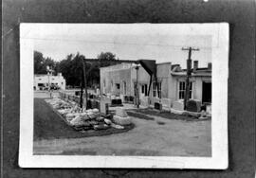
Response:
MULTIPOLYGON (((50 66, 54 70, 54 74, 61 72, 66 80, 67 85, 71 86, 81 86, 84 84, 84 75, 83 75, 83 59, 85 56, 79 52, 74 54, 69 54, 65 57, 64 60, 56 62, 51 58, 45 58, 43 54, 39 51, 34 51, 34 73, 35 74, 46 74, 46 66, 50 66)), ((92 87, 93 85, 100 84, 100 67, 109 66, 117 62, 116 55, 111 52, 101 52, 98 55, 100 59, 100 64, 93 65, 92 62, 85 63, 86 81, 87 86, 92 87), (92 66, 93 65, 93 66, 92 66)))

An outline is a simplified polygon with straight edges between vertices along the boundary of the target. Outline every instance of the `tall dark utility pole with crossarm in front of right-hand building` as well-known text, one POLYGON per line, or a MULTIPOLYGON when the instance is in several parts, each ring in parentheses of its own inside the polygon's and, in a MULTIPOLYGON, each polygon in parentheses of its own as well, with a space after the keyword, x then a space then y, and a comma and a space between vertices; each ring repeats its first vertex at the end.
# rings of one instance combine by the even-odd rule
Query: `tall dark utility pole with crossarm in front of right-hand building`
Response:
POLYGON ((187 110, 187 101, 190 99, 190 78, 192 77, 192 51, 199 51, 199 48, 193 47, 182 47, 181 50, 189 51, 189 58, 187 60, 187 76, 186 76, 186 88, 184 96, 184 110, 187 110))

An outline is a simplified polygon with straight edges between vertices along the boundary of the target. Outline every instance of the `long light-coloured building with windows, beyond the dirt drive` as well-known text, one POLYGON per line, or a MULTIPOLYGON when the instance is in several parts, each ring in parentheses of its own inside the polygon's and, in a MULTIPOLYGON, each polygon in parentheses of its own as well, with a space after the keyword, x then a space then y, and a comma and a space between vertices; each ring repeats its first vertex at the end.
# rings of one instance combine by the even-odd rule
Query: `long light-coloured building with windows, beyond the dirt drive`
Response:
MULTIPOLYGON (((156 80, 152 83, 146 70, 131 63, 101 67, 101 94, 119 95, 125 102, 125 98, 136 94, 138 83, 138 96, 140 104, 155 106, 161 103, 163 109, 170 110, 175 107, 175 102, 181 103, 183 108, 185 97, 186 69, 181 69, 179 64, 171 62, 156 63, 156 80), (157 81, 158 90, 157 90, 157 81)), ((190 98, 201 103, 211 103, 211 63, 206 68, 198 68, 198 62, 194 61, 191 77, 190 98)))

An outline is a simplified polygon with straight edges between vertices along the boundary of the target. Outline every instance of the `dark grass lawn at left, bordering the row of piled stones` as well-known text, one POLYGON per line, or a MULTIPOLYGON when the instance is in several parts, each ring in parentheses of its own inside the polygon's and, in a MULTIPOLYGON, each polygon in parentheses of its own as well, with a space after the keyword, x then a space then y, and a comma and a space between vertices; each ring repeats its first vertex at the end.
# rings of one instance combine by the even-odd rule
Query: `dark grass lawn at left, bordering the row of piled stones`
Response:
POLYGON ((109 128, 101 131, 89 130, 78 132, 68 126, 64 120, 46 104, 44 98, 34 98, 34 140, 119 134, 128 132, 134 127, 135 125, 131 124, 125 126, 123 130, 109 128))

